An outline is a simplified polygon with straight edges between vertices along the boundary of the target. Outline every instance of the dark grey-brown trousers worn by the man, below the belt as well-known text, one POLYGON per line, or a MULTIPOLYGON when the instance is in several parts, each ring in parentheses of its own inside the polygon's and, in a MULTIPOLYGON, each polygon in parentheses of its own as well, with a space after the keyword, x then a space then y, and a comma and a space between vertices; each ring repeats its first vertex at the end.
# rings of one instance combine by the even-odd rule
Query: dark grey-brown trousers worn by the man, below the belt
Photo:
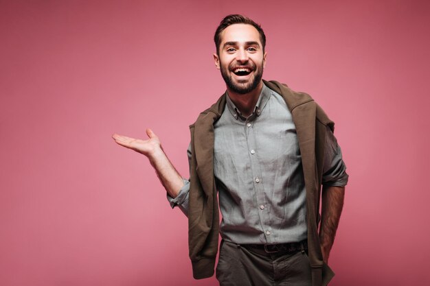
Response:
POLYGON ((306 251, 267 253, 221 241, 216 278, 220 286, 311 286, 306 251))

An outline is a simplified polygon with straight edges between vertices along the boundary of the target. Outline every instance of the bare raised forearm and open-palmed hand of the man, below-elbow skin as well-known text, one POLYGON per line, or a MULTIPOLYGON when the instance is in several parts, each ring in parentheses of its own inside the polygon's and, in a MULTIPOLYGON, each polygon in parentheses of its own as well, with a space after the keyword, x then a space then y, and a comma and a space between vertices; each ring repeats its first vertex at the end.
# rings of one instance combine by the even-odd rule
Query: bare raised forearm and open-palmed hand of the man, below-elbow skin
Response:
POLYGON ((184 185, 183 179, 164 153, 158 136, 150 129, 146 130, 146 134, 149 137, 147 140, 134 139, 119 134, 113 134, 112 138, 117 144, 144 154, 154 167, 164 189, 172 198, 176 198, 184 185))

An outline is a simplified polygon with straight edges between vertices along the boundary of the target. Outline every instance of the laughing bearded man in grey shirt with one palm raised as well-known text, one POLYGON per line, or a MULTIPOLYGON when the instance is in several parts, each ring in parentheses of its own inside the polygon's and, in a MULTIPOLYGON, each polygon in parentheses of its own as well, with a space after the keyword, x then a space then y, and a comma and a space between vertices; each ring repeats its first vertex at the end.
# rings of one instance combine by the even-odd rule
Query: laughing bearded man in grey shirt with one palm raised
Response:
POLYGON ((260 25, 229 15, 214 40, 227 91, 190 126, 190 180, 174 169, 152 130, 146 141, 113 139, 149 158, 172 206, 188 215, 194 278, 214 273, 218 191, 220 285, 326 285, 348 182, 334 123, 309 95, 262 80, 267 52, 260 25))

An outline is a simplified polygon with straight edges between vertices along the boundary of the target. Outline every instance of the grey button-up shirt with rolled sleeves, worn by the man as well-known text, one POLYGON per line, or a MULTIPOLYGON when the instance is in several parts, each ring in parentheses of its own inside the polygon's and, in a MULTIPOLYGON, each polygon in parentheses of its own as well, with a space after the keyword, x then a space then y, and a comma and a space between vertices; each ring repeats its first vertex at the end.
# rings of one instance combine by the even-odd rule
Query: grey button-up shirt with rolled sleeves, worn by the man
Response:
MULTIPOLYGON (((345 186, 348 174, 328 128, 323 183, 345 186)), ((227 97, 214 124, 214 176, 223 219, 220 235, 235 243, 287 243, 306 239, 306 191, 295 125, 284 99, 267 86, 251 116, 227 97)), ((190 158, 190 147, 188 158, 190 158)), ((184 187, 170 204, 188 213, 184 187)))

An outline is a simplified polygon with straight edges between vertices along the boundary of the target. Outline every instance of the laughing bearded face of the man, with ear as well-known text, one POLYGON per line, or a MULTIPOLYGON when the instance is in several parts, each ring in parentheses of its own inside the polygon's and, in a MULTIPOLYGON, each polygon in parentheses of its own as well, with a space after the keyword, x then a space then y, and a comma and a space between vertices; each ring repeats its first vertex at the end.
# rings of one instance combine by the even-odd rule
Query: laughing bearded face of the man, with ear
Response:
POLYGON ((257 29, 247 24, 229 25, 221 32, 220 39, 219 55, 214 53, 214 60, 227 88, 240 94, 253 91, 266 64, 257 29))

